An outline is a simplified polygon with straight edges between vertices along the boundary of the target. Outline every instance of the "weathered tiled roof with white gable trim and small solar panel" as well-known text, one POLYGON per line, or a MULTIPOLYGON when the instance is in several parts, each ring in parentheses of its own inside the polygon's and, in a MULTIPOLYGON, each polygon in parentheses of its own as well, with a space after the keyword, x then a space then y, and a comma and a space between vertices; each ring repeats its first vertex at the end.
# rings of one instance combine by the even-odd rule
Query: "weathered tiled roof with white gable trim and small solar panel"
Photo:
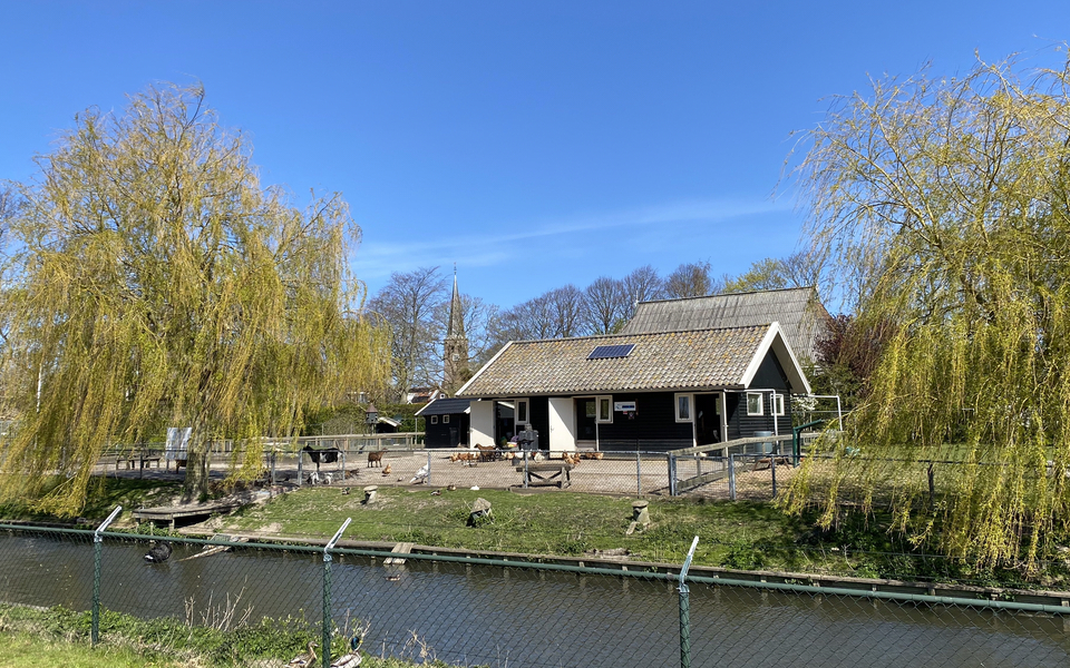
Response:
POLYGON ((519 341, 458 396, 533 396, 622 391, 745 389, 772 351, 792 392, 809 385, 777 323, 750 327, 519 341), (634 345, 626 356, 590 360, 597 346, 634 345))

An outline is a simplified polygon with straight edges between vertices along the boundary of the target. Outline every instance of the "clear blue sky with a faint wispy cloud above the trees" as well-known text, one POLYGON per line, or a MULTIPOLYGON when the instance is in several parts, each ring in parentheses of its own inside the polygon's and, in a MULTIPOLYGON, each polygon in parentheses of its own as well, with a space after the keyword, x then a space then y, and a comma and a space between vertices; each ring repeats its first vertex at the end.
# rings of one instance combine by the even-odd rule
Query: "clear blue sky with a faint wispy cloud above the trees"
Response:
POLYGON ((823 98, 975 50, 1050 61, 1070 2, 0 0, 0 178, 86 107, 200 80, 265 184, 343 194, 372 292, 456 262, 508 307, 788 255, 802 215, 774 190, 823 98))

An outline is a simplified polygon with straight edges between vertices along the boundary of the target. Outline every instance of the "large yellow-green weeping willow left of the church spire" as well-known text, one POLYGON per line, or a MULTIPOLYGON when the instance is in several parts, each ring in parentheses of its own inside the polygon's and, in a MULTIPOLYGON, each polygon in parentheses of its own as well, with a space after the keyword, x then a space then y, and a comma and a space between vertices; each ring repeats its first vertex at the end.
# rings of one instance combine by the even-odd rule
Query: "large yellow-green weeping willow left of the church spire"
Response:
POLYGON ((75 513, 114 444, 189 426, 187 495, 213 439, 294 433, 307 406, 381 384, 388 334, 348 274, 359 229, 338 196, 295 208, 262 187, 200 87, 87 110, 16 184, 2 318, 21 367, 0 495, 75 513), (46 481, 66 482, 46 492, 46 481))

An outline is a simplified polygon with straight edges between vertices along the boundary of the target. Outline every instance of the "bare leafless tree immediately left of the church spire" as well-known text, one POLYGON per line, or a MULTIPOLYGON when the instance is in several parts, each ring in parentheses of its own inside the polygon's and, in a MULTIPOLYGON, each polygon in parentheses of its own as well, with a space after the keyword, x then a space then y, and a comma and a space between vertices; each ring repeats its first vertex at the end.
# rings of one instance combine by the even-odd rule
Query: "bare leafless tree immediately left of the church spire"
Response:
POLYGON ((440 312, 444 305, 448 307, 446 287, 438 267, 395 272, 368 304, 393 333, 391 371, 398 401, 412 386, 430 386, 441 380, 440 344, 446 328, 440 312))

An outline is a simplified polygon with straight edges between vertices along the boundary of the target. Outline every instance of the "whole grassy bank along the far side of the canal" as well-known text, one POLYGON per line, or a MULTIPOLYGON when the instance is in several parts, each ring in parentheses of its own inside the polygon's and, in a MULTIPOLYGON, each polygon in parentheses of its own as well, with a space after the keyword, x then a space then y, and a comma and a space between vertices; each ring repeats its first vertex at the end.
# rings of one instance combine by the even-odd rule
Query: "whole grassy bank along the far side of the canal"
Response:
MULTIPOLYGON (((116 504, 129 510, 167 502, 178 491, 177 483, 100 479, 84 514, 93 527, 116 504)), ((651 525, 626 536, 632 520, 628 498, 416 487, 381 488, 371 505, 361 500, 359 488, 350 494, 338 488, 304 488, 210 520, 201 529, 300 540, 330 537, 352 518, 344 536, 350 540, 562 557, 628 550, 634 560, 664 563, 682 562, 698 536, 698 566, 1004 587, 1064 588, 1070 582, 1067 563, 1054 558, 1039 578, 1023 581, 1018 571, 983 571, 965 561, 921 553, 879 514, 845 511, 834 530, 819 531, 813 528, 814 518, 788 515, 771 503, 652 497, 651 525), (493 521, 467 527, 480 497, 492 503, 493 521)), ((33 513, 25 503, 0 507, 0 517, 57 520, 33 513)), ((115 527, 135 528, 128 512, 115 527)), ((149 525, 138 530, 147 532, 149 525)))

